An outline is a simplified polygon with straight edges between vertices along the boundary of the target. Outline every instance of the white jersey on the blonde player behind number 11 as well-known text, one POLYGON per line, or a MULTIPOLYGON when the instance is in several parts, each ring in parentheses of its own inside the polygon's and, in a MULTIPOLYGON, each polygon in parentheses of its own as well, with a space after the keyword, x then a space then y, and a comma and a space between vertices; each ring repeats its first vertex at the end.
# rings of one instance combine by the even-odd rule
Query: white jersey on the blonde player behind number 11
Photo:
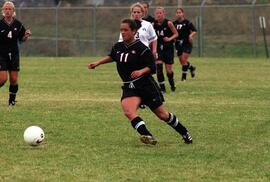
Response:
MULTIPOLYGON (((157 34, 154 30, 153 25, 145 20, 142 20, 142 26, 139 28, 139 30, 137 30, 137 33, 135 35, 135 39, 140 39, 140 41, 146 45, 147 47, 149 47, 149 44, 154 41, 157 40, 157 34)), ((119 40, 118 42, 122 42, 123 38, 122 35, 120 33, 119 36, 119 40)))

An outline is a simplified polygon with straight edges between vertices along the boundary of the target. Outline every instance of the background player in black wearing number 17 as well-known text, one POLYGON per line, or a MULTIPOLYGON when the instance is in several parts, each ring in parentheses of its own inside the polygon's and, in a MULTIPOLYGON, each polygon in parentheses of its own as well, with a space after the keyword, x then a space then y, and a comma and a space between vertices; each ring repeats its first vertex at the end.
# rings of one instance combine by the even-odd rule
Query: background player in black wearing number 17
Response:
POLYGON ((175 28, 178 31, 179 36, 175 42, 175 48, 182 65, 182 81, 186 81, 187 72, 190 70, 191 77, 195 77, 195 66, 189 61, 188 57, 192 51, 192 40, 197 34, 197 30, 194 25, 184 16, 184 10, 182 8, 176 9, 177 20, 173 22, 175 28))

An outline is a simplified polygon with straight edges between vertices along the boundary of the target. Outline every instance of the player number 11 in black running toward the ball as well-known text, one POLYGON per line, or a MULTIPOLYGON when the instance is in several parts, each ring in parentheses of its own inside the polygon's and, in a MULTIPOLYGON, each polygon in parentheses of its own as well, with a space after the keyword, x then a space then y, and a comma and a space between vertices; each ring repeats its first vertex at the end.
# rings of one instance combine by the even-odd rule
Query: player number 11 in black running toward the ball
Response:
POLYGON ((135 40, 134 35, 137 31, 135 21, 124 19, 121 22, 120 31, 123 42, 116 43, 108 56, 88 64, 88 69, 116 62, 118 74, 123 81, 122 109, 133 128, 140 134, 143 143, 155 145, 157 141, 137 113, 141 102, 146 104, 159 119, 173 127, 182 136, 185 143, 192 143, 188 130, 174 114, 167 112, 163 106, 162 93, 152 77, 156 71, 154 57, 147 46, 140 40, 135 40))

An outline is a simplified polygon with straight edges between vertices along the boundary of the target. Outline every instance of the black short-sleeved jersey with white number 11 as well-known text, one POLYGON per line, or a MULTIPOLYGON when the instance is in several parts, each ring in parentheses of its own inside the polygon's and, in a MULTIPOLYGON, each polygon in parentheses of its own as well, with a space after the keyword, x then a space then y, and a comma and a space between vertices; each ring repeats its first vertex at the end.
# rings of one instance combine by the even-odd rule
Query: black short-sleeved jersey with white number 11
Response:
MULTIPOLYGON (((109 56, 116 62, 117 71, 123 82, 134 80, 131 73, 149 67, 151 75, 156 71, 156 65, 151 50, 140 40, 135 40, 131 44, 117 42, 111 50, 109 56)), ((146 76, 147 76, 146 75, 146 76)))

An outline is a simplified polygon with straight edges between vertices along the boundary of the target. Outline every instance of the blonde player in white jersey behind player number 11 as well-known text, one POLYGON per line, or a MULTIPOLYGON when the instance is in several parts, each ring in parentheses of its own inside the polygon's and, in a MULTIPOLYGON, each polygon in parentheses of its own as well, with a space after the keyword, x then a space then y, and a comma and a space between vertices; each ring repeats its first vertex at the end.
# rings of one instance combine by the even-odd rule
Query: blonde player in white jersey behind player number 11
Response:
MULTIPOLYGON (((152 50, 154 57, 157 54, 157 35, 153 25, 143 20, 144 7, 141 3, 134 3, 130 6, 130 18, 135 20, 137 26, 140 27, 135 35, 135 39, 140 41, 152 50)), ((122 35, 120 34, 119 42, 123 41, 122 35)))

